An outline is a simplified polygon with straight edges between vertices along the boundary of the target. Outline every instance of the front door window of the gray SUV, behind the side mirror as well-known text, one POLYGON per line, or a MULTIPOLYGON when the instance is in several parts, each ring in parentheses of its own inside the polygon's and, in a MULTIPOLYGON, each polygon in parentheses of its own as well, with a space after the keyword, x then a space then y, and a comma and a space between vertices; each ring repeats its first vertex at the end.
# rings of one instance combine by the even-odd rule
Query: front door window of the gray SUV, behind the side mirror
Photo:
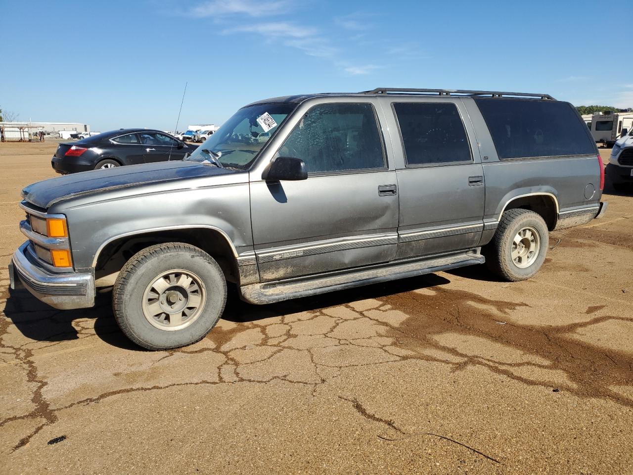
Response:
POLYGON ((279 149, 306 162, 310 172, 343 172, 385 166, 370 104, 323 104, 304 115, 279 149))

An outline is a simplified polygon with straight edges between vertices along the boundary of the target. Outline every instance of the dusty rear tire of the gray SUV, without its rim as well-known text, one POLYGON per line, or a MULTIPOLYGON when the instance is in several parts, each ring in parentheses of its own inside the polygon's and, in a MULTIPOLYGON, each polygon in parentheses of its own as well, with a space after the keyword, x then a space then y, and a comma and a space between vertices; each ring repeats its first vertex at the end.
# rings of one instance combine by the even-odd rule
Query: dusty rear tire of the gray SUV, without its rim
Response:
POLYGON ((549 245, 549 232, 540 215, 529 210, 508 210, 501 215, 499 226, 484 254, 486 264, 494 274, 510 282, 524 281, 534 276, 545 261, 549 245), (537 232, 539 249, 529 267, 518 267, 512 259, 513 239, 522 229, 529 227, 537 232))

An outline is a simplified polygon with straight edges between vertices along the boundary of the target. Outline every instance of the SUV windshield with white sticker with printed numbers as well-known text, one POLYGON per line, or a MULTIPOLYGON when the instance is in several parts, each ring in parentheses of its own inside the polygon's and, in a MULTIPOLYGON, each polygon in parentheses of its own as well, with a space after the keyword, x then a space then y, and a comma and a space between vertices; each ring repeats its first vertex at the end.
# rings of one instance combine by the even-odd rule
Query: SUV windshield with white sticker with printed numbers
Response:
POLYGON ((185 160, 248 168, 296 104, 244 107, 185 160))

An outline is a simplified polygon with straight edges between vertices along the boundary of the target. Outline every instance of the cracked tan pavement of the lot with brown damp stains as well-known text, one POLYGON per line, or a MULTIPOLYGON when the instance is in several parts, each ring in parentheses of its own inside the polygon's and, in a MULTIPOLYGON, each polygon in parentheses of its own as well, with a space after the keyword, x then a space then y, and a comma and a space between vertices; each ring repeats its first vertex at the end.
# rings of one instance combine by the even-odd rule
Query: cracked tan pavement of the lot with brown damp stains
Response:
POLYGON ((55 147, 0 144, 2 474, 633 473, 633 193, 608 186, 529 281, 233 293, 207 338, 146 352, 108 293, 58 311, 8 289, 20 189, 55 147))

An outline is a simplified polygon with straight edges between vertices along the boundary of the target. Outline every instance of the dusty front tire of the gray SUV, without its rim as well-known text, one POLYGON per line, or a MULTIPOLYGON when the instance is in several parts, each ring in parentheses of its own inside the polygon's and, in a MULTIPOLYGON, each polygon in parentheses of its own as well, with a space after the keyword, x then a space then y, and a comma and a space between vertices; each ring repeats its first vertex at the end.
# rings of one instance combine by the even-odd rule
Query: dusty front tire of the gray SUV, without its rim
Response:
POLYGON ((139 251, 125 263, 112 290, 112 308, 116 323, 134 343, 148 350, 168 350, 203 339, 222 316, 226 298, 224 274, 210 255, 191 244, 165 243, 139 251), (149 322, 144 302, 150 284, 173 269, 199 277, 206 298, 191 324, 168 331, 149 322))

